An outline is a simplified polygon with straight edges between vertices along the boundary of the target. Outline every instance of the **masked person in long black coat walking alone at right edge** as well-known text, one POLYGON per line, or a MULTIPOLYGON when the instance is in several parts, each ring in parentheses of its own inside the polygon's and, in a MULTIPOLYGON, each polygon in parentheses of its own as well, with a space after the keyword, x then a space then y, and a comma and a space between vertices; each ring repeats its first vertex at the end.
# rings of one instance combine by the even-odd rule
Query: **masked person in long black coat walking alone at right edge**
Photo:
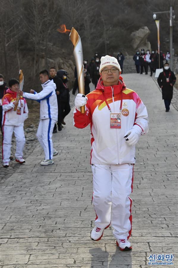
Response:
POLYGON ((176 76, 169 68, 169 63, 164 64, 163 72, 159 74, 157 82, 162 90, 166 112, 168 112, 170 110, 171 99, 173 96, 173 85, 176 82, 176 76))

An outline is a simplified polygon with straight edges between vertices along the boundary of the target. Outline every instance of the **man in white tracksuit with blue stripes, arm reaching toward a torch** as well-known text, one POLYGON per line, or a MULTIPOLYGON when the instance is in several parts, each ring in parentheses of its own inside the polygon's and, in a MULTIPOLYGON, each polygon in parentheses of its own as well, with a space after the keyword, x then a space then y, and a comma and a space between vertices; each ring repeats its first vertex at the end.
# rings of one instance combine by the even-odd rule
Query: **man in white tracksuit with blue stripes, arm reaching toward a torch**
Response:
POLYGON ((23 97, 40 102, 40 123, 37 138, 45 153, 45 160, 40 164, 47 166, 54 163, 53 156, 58 154, 56 149, 53 149, 52 141, 54 124, 58 119, 58 105, 55 91, 56 84, 53 80, 49 80, 48 71, 40 71, 39 78, 42 83, 42 91, 37 93, 31 89, 30 93, 23 92, 23 97))

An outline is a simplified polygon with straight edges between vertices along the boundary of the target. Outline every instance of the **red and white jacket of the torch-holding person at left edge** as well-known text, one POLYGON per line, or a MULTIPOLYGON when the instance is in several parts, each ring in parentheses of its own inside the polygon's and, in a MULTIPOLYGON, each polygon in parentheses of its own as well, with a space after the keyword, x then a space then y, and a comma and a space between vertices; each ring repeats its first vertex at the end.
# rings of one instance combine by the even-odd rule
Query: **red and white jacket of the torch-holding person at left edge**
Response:
POLYGON ((17 92, 7 89, 2 98, 2 125, 23 126, 23 122, 28 118, 28 107, 26 100, 21 96, 18 102, 17 110, 14 111, 14 102, 17 98, 17 92))

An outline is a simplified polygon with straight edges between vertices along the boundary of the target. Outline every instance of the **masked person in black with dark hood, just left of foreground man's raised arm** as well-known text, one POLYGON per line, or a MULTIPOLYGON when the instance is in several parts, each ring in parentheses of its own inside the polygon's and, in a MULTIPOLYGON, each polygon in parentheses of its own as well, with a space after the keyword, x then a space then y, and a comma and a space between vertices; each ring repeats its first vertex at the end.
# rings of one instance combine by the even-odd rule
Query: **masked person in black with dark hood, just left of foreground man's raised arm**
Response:
POLYGON ((65 116, 67 116, 68 113, 70 113, 70 94, 69 94, 69 88, 67 86, 67 71, 65 70, 59 70, 57 71, 57 77, 61 78, 63 87, 61 89, 61 110, 62 110, 62 121, 61 123, 65 125, 66 123, 64 122, 65 116))

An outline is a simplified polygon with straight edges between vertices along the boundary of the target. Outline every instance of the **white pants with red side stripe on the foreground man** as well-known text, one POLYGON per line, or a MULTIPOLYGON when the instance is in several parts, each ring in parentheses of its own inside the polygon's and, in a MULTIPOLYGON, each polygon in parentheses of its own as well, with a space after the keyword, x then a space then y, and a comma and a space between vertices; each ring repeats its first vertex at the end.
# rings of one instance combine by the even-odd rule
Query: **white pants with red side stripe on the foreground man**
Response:
POLYGON ((132 192, 133 164, 92 165, 95 225, 111 222, 116 239, 128 239, 132 229, 129 194, 132 192))

